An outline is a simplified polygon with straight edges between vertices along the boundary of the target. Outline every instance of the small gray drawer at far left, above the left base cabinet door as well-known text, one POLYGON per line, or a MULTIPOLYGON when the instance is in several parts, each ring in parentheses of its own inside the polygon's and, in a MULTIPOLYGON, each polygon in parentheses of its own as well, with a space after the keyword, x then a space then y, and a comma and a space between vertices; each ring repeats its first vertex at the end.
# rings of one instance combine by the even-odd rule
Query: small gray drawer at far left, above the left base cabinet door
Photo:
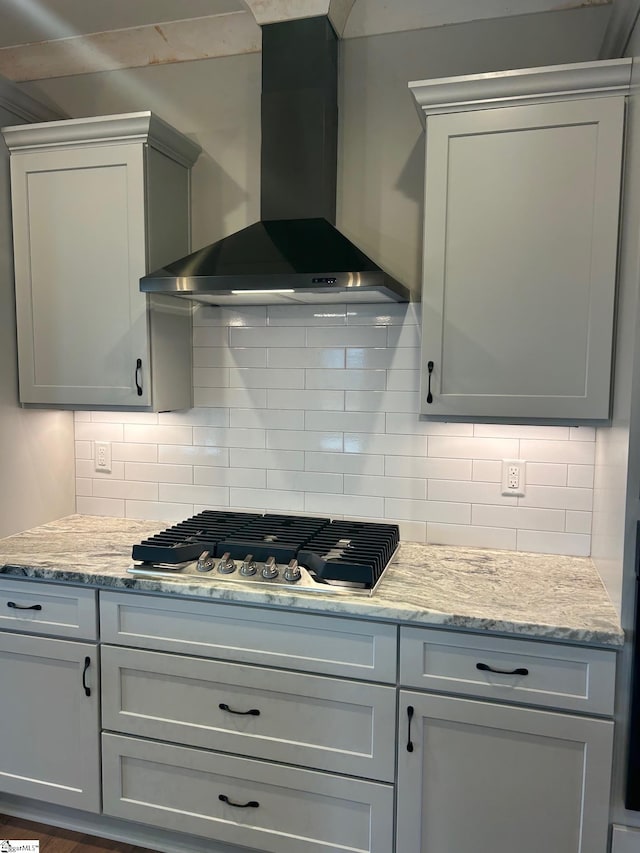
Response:
POLYGON ((95 590, 0 578, 0 630, 95 640, 95 590))

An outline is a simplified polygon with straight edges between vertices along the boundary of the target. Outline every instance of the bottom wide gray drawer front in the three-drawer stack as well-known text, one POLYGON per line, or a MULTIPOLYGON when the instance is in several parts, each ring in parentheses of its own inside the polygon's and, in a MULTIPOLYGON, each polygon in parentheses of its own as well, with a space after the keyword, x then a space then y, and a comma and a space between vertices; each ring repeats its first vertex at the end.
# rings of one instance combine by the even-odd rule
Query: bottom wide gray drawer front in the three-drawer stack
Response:
POLYGON ((391 785, 120 735, 102 738, 105 814, 264 853, 393 849, 391 785))

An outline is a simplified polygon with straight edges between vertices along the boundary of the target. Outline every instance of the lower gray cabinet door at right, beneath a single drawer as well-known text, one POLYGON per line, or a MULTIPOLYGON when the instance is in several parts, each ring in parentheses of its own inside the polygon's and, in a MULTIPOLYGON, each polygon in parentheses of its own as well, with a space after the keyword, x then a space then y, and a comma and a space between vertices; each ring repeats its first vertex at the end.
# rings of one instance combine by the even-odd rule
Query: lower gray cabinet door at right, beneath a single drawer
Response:
POLYGON ((606 850, 611 721, 406 691, 399 719, 399 853, 606 850))

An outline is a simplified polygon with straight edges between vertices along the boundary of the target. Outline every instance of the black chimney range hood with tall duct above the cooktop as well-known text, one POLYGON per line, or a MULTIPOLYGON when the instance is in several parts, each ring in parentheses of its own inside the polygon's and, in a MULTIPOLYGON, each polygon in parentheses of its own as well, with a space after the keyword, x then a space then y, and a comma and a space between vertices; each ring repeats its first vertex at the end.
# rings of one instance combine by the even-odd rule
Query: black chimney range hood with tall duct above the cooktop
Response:
POLYGON ((212 305, 408 302, 335 227, 338 40, 327 17, 262 28, 261 220, 140 279, 212 305))

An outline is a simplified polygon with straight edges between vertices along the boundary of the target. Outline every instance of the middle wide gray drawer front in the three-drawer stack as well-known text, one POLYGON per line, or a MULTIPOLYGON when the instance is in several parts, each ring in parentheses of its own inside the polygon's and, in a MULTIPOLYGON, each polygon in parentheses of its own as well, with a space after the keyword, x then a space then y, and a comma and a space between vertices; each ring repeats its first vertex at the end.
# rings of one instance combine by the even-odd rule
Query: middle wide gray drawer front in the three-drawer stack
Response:
POLYGON ((102 726, 393 781, 393 687, 102 647, 102 726))

